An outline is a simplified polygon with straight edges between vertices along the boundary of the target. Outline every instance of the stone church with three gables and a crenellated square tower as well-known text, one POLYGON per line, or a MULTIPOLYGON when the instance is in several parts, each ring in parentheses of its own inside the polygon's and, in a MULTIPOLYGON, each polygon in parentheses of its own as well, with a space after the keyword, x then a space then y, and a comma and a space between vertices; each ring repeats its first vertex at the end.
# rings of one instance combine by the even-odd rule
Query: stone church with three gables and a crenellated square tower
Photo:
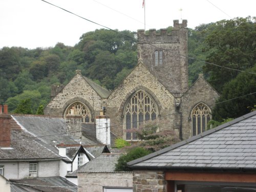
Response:
POLYGON ((66 86, 52 86, 44 114, 62 116, 70 132, 83 129, 88 134, 105 118, 111 143, 115 138, 138 140, 129 130, 147 120, 163 120, 165 128, 159 131, 172 129, 181 140, 206 131, 219 94, 202 74, 188 87, 187 20, 174 20, 170 34, 166 29, 150 29, 148 34, 138 30, 137 37, 138 64, 115 90, 100 87, 76 70, 66 86))

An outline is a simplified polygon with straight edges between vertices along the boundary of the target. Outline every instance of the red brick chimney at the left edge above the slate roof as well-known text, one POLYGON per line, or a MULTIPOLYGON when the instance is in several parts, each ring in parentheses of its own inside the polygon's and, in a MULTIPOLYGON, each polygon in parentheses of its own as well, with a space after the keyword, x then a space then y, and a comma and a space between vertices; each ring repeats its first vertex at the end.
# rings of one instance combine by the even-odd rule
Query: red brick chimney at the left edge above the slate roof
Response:
POLYGON ((0 115, 0 147, 11 146, 11 116, 0 115))

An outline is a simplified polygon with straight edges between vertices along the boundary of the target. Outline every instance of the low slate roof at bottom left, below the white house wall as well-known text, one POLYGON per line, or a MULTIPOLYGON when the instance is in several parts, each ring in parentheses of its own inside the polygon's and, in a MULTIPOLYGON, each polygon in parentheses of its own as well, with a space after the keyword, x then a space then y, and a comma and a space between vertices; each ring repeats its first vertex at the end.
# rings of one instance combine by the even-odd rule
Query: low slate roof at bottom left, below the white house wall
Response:
POLYGON ((11 181, 12 192, 44 191, 44 192, 76 192, 77 185, 62 177, 27 178, 11 181), (59 186, 59 187, 57 187, 59 186), (29 188, 29 190, 28 190, 29 188), (32 190, 31 190, 32 189, 32 190))

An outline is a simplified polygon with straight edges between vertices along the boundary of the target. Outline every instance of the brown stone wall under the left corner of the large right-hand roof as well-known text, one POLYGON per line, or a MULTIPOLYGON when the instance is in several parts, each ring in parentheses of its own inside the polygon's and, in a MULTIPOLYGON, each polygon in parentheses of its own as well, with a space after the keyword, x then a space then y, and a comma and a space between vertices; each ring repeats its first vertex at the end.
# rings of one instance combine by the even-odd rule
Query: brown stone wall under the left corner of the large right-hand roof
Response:
POLYGON ((158 170, 134 170, 133 192, 166 192, 164 172, 158 170))

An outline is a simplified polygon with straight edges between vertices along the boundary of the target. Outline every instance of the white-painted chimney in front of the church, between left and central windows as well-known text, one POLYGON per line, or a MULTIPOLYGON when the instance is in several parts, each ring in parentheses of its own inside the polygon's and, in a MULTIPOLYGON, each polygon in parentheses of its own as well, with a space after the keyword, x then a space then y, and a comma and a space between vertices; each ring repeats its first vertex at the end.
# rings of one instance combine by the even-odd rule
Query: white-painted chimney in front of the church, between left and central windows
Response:
POLYGON ((110 145, 110 118, 105 115, 105 108, 96 116, 96 138, 102 144, 110 145))

